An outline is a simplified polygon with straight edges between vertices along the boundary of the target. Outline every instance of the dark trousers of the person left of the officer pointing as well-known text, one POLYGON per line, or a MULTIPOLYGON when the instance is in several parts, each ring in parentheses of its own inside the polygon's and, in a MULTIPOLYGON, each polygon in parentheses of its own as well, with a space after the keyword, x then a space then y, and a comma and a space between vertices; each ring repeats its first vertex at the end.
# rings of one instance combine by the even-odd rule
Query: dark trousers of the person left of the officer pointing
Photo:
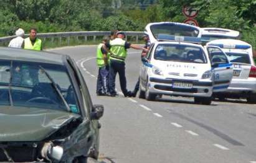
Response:
POLYGON ((96 93, 108 93, 108 68, 103 66, 98 68, 98 77, 97 77, 97 90, 96 93))

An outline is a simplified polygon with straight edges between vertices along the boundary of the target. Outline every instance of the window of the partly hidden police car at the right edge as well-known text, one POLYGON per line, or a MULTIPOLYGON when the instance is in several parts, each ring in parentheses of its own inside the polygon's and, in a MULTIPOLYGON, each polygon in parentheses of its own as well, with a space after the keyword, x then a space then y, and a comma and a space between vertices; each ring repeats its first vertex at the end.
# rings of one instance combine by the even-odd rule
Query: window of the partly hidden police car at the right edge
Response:
POLYGON ((250 64, 250 56, 246 53, 230 53, 226 52, 227 58, 232 63, 246 63, 250 64))

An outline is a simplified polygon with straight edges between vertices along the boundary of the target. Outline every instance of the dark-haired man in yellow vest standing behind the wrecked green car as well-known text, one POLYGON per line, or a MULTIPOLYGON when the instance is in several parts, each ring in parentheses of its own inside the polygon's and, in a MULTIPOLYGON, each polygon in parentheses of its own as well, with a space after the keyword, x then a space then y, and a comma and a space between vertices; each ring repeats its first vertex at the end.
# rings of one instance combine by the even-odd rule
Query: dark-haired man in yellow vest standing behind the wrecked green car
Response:
POLYGON ((36 28, 31 28, 29 30, 29 37, 24 39, 22 48, 29 50, 42 50, 42 40, 37 38, 36 28))

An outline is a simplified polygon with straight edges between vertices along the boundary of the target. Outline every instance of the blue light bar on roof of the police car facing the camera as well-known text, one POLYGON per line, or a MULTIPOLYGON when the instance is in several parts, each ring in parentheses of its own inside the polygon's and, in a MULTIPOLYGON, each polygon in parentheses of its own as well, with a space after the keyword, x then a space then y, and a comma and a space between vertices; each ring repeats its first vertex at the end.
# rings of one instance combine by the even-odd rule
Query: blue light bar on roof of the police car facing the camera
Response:
POLYGON ((187 43, 197 43, 197 44, 202 43, 201 38, 198 38, 198 37, 166 35, 166 34, 159 34, 158 41, 187 42, 187 43))

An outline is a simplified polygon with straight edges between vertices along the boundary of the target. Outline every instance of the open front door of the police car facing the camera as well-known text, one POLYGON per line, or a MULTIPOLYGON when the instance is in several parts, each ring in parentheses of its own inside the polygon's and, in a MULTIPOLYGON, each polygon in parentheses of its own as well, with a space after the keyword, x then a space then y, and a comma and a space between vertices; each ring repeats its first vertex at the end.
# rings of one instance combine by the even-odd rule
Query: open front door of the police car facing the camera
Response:
POLYGON ((207 46, 213 71, 213 92, 221 92, 229 87, 233 68, 227 55, 217 46, 207 46))

